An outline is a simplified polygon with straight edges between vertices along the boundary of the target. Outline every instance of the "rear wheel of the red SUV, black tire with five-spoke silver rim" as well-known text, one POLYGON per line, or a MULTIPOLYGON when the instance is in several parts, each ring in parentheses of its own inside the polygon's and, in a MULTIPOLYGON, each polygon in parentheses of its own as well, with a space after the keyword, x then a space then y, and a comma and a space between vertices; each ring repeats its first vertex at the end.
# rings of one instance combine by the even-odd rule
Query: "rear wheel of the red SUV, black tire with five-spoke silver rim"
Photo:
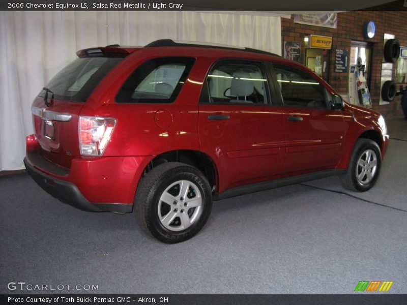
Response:
POLYGON ((163 242, 182 242, 207 222, 212 208, 211 187, 196 168, 168 162, 140 180, 134 207, 141 228, 163 242))

